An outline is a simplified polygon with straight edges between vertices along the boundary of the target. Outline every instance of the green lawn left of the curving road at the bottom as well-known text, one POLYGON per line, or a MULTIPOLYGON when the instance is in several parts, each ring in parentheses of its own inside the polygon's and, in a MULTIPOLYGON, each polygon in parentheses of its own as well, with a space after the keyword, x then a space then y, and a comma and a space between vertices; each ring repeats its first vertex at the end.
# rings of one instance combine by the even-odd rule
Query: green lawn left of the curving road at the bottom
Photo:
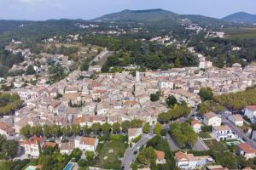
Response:
POLYGON ((96 167, 105 169, 120 169, 122 157, 125 153, 125 144, 121 141, 106 141, 99 150, 96 167))

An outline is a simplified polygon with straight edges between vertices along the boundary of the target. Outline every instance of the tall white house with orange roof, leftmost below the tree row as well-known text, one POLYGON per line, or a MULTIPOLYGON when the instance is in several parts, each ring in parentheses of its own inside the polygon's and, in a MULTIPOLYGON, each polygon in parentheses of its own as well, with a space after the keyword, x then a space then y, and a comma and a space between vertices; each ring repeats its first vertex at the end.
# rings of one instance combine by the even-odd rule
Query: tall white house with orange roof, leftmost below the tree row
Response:
POLYGON ((44 138, 33 136, 24 141, 25 154, 38 157, 44 145, 44 138))

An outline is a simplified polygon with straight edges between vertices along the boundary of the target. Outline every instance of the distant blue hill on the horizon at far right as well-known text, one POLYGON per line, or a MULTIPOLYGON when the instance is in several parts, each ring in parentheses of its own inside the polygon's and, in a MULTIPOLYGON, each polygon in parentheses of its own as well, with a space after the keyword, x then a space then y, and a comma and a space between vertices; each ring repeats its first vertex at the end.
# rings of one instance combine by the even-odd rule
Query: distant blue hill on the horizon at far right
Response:
POLYGON ((256 23, 256 14, 248 14, 245 12, 238 12, 235 14, 228 15, 228 16, 224 17, 222 20, 254 24, 254 23, 256 23))

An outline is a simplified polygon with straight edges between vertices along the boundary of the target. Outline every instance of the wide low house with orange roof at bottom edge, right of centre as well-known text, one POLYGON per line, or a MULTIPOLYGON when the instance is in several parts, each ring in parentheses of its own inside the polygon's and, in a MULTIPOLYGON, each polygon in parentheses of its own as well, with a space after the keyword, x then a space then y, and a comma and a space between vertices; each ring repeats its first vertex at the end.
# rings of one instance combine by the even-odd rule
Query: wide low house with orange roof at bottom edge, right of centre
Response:
POLYGON ((200 169, 206 164, 213 162, 211 156, 194 156, 182 151, 175 153, 175 161, 177 167, 181 169, 200 169))

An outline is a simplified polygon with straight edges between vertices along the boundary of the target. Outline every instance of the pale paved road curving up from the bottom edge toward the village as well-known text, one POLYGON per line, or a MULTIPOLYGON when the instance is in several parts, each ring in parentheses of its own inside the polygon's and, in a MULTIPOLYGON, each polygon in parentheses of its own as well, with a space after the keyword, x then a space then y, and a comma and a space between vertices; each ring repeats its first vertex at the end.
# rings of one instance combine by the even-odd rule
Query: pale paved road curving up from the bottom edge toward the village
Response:
POLYGON ((143 134, 142 139, 140 139, 137 144, 132 146, 131 148, 127 148, 125 150, 124 158, 122 161, 122 167, 124 167, 125 170, 130 170, 131 169, 131 163, 135 161, 137 154, 134 154, 134 151, 137 150, 137 148, 141 148, 144 144, 148 143, 148 140, 152 139, 154 137, 154 134, 148 133, 148 134, 143 134))

